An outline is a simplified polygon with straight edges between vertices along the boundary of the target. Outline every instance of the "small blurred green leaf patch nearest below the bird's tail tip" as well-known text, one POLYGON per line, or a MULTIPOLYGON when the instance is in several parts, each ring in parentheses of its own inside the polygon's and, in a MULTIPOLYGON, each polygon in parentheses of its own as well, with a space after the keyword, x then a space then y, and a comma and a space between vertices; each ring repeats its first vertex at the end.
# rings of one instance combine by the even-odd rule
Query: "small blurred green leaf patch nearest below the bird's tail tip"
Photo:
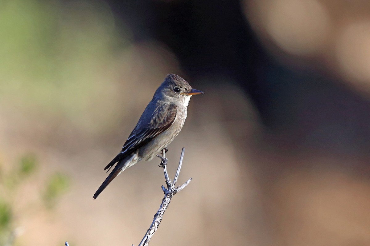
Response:
POLYGON ((70 179, 61 173, 53 174, 47 182, 43 201, 47 208, 53 208, 58 198, 63 195, 70 186, 70 179))

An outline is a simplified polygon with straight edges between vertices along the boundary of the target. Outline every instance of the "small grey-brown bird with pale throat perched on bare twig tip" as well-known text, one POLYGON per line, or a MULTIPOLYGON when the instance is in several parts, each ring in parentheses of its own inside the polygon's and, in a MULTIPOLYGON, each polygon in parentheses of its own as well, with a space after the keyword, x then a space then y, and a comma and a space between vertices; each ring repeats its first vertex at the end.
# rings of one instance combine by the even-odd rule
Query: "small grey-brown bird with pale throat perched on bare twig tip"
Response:
POLYGON ((121 152, 104 168, 109 171, 117 163, 92 198, 95 200, 105 187, 128 167, 140 160, 151 160, 159 151, 165 151, 184 125, 191 96, 198 94, 204 93, 192 89, 180 76, 166 75, 121 152))

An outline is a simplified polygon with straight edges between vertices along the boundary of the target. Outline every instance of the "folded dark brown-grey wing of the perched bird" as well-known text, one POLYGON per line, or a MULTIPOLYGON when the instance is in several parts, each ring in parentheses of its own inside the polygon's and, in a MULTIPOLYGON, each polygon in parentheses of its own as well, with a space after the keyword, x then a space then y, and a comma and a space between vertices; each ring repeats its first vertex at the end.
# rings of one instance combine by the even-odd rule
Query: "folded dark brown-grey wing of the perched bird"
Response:
POLYGON ((177 106, 175 104, 164 104, 158 107, 151 117, 145 117, 145 115, 147 115, 145 111, 139 119, 135 129, 129 135, 121 152, 104 168, 104 170, 110 169, 116 162, 171 127, 176 118, 177 106))

